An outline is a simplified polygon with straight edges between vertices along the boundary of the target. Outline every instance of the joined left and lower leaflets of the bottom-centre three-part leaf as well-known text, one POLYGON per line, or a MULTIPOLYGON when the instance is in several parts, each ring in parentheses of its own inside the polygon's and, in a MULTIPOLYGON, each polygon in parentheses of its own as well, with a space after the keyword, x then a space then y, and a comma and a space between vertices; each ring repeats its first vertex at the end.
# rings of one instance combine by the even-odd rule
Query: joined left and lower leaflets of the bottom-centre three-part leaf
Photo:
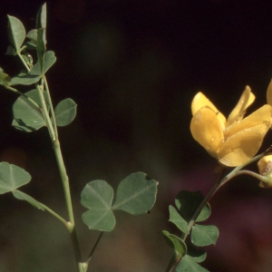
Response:
POLYGON ((90 229, 112 231, 115 218, 112 213, 113 189, 104 180, 89 182, 81 193, 83 207, 89 209, 83 213, 83 222, 90 229))

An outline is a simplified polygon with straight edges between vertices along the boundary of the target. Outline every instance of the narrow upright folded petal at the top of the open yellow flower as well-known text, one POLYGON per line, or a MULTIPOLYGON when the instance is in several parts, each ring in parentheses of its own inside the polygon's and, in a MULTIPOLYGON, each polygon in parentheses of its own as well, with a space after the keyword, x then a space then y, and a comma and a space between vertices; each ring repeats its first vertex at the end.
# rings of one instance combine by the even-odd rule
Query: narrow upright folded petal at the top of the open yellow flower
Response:
POLYGON ((235 106, 232 112, 228 116, 227 126, 230 126, 235 121, 240 121, 243 119, 246 110, 254 102, 255 95, 251 92, 250 88, 246 86, 245 91, 242 93, 238 104, 235 106))

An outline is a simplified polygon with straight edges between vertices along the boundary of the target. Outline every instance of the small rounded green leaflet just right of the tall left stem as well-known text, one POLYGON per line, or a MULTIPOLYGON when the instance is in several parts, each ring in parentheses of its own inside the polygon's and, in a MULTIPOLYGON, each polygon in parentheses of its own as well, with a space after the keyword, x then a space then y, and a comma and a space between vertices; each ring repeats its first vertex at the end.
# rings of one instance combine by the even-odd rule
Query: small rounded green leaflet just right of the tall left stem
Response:
POLYGON ((64 99, 55 107, 54 115, 57 126, 68 125, 76 115, 76 103, 71 98, 64 99))

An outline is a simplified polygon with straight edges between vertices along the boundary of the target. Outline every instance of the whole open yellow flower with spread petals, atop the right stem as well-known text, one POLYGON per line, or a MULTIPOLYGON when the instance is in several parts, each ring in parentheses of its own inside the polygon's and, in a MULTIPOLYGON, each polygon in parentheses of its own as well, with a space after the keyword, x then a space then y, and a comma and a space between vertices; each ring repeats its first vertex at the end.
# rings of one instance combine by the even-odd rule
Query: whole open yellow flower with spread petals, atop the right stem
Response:
POLYGON ((197 93, 191 103, 193 138, 226 166, 248 162, 260 148, 272 117, 272 107, 266 104, 243 119, 254 100, 255 95, 247 86, 226 120, 202 92, 197 93))

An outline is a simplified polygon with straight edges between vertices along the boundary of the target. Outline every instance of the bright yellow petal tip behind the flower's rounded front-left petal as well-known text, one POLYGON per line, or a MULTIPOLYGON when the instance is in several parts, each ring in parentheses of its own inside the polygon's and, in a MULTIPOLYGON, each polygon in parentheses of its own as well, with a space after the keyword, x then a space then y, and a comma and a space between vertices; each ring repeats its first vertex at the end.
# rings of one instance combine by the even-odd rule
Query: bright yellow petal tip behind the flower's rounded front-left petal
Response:
POLYGON ((193 98, 193 101, 191 102, 192 115, 195 115, 196 112, 198 112, 202 107, 206 106, 209 106, 212 111, 216 112, 221 128, 222 130, 224 130, 226 123, 225 116, 221 112, 219 112, 216 106, 212 102, 210 102, 209 99, 202 92, 198 92, 193 98))

